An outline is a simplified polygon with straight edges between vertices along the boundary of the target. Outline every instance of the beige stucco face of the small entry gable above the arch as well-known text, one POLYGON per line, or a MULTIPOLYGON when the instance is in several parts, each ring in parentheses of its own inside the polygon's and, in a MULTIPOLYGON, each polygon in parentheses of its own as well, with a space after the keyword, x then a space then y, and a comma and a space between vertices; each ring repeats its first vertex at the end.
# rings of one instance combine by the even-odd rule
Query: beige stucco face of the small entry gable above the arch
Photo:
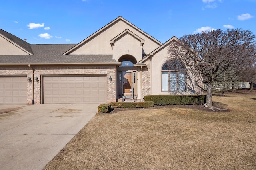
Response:
POLYGON ((122 55, 132 55, 137 62, 142 58, 142 45, 140 41, 130 34, 125 34, 114 42, 113 59, 118 61, 122 55))

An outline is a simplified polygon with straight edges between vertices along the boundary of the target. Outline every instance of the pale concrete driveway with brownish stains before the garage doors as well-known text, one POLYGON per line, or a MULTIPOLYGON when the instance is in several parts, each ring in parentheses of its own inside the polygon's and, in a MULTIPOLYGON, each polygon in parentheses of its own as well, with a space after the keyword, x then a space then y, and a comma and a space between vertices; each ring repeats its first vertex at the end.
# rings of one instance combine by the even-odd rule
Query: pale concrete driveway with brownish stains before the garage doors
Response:
POLYGON ((42 170, 97 113, 99 104, 0 105, 0 169, 42 170))

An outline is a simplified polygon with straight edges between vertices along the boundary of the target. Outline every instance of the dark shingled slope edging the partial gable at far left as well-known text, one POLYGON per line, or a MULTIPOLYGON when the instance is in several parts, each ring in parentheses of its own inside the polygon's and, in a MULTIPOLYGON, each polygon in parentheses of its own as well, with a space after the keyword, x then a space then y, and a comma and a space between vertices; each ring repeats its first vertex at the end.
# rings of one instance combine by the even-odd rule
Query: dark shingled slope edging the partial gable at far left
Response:
POLYGON ((30 47, 30 44, 27 43, 26 41, 23 41, 22 39, 16 37, 15 35, 12 35, 2 29, 0 29, 0 34, 2 34, 4 37, 6 37, 7 39, 9 39, 10 41, 16 43, 17 45, 19 45, 20 47, 22 47, 23 49, 25 49, 26 51, 30 52, 33 54, 33 51, 30 47))

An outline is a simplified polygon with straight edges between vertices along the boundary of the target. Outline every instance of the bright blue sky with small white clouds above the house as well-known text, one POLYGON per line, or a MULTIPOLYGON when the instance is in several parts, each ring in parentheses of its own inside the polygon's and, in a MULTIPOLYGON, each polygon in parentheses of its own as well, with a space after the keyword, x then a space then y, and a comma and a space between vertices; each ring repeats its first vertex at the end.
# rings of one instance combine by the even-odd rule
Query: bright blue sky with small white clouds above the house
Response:
POLYGON ((256 34, 256 0, 4 0, 0 29, 30 44, 80 43, 118 16, 158 41, 210 29, 256 34))

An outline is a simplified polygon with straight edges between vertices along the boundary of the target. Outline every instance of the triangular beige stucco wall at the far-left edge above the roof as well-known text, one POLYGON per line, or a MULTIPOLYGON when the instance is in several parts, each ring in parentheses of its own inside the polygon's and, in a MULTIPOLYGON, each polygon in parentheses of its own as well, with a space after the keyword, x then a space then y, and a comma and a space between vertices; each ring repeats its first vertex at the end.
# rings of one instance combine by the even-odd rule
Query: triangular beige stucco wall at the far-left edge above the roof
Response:
POLYGON ((0 55, 28 55, 28 53, 0 36, 0 55))

